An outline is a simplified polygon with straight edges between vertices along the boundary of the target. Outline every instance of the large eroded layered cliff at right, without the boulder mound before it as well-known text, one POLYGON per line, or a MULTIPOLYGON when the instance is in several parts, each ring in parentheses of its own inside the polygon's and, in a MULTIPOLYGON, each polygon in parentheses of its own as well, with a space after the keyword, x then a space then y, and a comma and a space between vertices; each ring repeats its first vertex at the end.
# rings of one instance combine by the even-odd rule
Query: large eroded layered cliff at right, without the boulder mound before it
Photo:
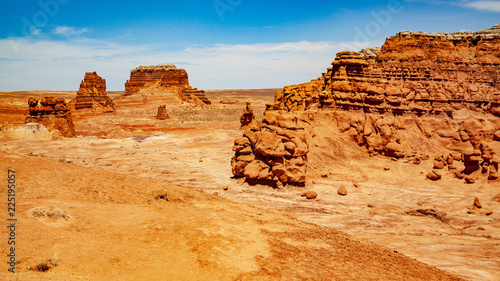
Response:
POLYGON ((419 163, 452 153, 466 164, 457 176, 498 179, 500 25, 452 34, 403 31, 380 50, 360 53, 338 53, 322 77, 284 87, 268 110, 327 113, 332 132, 371 155, 419 163))

